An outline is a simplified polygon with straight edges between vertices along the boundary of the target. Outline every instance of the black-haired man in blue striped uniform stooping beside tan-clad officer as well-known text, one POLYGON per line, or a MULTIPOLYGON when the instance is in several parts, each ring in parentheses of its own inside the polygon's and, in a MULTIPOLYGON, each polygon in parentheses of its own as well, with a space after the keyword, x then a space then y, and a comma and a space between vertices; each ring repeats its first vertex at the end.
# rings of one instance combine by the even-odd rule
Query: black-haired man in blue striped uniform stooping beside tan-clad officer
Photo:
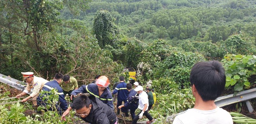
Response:
MULTIPOLYGON (((61 83, 62 78, 63 78, 63 75, 61 73, 57 73, 54 76, 54 80, 45 83, 45 85, 42 88, 42 90, 45 90, 45 91, 51 91, 53 88, 55 88, 57 90, 56 94, 59 95, 59 100, 58 100, 58 103, 55 104, 55 108, 57 109, 57 111, 59 112, 60 115, 62 114, 61 109, 63 111, 67 110, 67 102, 65 100, 64 93, 62 92, 62 88, 59 86, 59 83, 61 83)), ((45 95, 49 95, 49 94, 48 93, 45 93, 45 94, 40 93, 40 95, 37 97, 36 100, 37 100, 38 105, 42 105, 45 108, 47 108, 46 106, 47 106, 48 99, 43 100, 43 97, 45 95)), ((50 109, 48 109, 48 110, 52 110, 53 108, 54 107, 50 107, 50 109)))

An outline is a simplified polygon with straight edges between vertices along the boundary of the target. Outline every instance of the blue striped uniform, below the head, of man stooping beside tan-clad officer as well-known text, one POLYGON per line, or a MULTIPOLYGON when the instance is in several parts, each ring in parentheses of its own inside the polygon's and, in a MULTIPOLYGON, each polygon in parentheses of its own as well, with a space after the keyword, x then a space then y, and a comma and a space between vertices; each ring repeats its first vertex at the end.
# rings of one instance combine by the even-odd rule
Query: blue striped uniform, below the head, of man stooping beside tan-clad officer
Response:
MULTIPOLYGON (((55 88, 58 91, 56 94, 59 95, 59 103, 56 104, 56 108, 57 108, 59 114, 61 114, 62 113, 61 109, 63 111, 67 110, 67 102, 65 100, 63 90, 62 90, 61 86, 58 84, 58 82, 56 80, 52 80, 50 82, 47 82, 43 86, 42 90, 51 91, 52 88, 55 88), (59 106, 61 107, 61 109, 59 108, 59 106)), ((45 95, 48 95, 48 94, 47 93, 45 93, 45 94, 40 93, 38 95, 38 97, 36 98, 38 105, 43 105, 43 106, 47 105, 47 102, 46 102, 47 100, 42 99, 45 95)))

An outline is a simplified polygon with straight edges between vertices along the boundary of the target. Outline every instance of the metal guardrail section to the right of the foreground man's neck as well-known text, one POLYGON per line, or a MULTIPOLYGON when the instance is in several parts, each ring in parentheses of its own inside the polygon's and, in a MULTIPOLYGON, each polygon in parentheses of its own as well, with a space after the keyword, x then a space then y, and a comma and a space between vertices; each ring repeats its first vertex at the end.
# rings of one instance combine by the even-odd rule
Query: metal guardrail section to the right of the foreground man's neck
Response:
POLYGON ((245 90, 242 92, 237 93, 235 96, 234 94, 218 97, 214 102, 218 107, 224 107, 227 105, 235 104, 237 102, 244 102, 246 101, 247 108, 249 112, 253 112, 253 106, 250 103, 250 99, 256 98, 256 88, 245 90))

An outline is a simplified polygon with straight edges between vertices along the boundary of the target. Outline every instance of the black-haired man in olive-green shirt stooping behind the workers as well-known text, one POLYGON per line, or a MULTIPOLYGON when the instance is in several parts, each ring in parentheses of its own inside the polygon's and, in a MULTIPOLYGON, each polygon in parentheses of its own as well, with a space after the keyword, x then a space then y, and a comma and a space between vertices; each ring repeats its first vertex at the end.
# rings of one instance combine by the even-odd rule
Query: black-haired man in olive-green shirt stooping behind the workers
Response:
POLYGON ((64 96, 68 94, 68 96, 71 96, 71 92, 78 89, 78 84, 76 81, 76 78, 69 75, 63 76, 63 82, 59 84, 63 90, 64 96))

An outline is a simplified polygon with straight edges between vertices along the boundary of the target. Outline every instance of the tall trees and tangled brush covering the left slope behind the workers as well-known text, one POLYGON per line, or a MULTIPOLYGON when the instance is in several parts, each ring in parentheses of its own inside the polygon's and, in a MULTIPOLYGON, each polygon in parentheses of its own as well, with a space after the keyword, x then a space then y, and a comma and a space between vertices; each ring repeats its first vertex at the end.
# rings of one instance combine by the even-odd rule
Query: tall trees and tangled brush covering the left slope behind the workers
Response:
MULTIPOLYGON (((108 51, 100 49, 83 22, 57 17, 64 6, 70 8, 80 2, 88 1, 1 2, 1 73, 21 79, 20 72, 33 71, 50 80, 61 72, 84 83, 98 74, 115 78, 121 73, 123 66, 113 62, 108 51), (23 6, 27 8, 23 10, 23 6)), ((86 7, 78 5, 72 11, 86 7)))

